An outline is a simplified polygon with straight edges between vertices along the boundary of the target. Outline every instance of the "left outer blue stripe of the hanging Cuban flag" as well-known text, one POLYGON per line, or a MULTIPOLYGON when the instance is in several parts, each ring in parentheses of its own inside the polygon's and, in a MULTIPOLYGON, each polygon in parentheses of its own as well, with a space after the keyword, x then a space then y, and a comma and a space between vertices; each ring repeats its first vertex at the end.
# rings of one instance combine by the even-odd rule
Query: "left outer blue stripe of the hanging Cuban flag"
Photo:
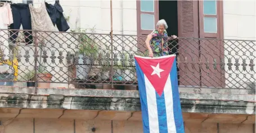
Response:
POLYGON ((136 72, 137 72, 137 79, 138 79, 138 90, 140 92, 140 99, 141 99, 141 112, 142 112, 142 122, 143 122, 143 132, 149 133, 149 111, 147 108, 147 92, 145 86, 145 78, 144 73, 141 70, 140 65, 135 59, 136 65, 136 72))

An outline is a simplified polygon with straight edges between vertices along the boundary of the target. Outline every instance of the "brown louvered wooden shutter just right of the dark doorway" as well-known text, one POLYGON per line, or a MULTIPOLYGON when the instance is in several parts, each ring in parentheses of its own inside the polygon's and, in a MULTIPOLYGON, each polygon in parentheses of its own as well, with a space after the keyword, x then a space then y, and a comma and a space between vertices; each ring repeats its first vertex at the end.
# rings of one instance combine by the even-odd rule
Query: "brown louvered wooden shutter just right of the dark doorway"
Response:
POLYGON ((178 1, 179 85, 200 86, 198 1, 178 1))

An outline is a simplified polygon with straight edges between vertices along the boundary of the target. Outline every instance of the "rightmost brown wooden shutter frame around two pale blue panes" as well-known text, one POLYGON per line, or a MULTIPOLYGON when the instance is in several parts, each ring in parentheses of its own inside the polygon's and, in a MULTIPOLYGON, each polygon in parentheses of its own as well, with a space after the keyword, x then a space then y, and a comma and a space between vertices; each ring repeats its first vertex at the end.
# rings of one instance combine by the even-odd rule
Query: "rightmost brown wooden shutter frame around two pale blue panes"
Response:
POLYGON ((201 86, 224 87, 223 1, 216 1, 216 15, 204 15, 204 1, 199 1, 200 57, 205 65, 201 68, 201 86), (217 33, 204 32, 204 17, 217 18, 217 33), (209 65, 209 66, 206 66, 209 65))

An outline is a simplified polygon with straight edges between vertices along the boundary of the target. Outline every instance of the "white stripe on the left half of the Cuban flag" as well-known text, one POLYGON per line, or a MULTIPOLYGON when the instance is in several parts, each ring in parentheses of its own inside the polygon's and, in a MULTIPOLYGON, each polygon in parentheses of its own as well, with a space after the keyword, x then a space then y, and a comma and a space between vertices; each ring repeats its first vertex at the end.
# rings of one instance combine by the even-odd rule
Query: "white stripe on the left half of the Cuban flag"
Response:
POLYGON ((156 104, 156 91, 149 79, 144 74, 147 93, 147 111, 149 113, 149 131, 159 133, 158 106, 156 104))

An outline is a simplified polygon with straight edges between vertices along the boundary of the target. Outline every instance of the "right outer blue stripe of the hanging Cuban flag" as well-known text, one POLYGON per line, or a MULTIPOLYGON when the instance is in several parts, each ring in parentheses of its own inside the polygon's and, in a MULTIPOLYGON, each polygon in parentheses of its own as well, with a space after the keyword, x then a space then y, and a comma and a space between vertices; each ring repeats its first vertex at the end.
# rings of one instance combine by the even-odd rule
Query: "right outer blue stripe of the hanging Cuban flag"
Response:
POLYGON ((181 102, 179 100, 178 91, 178 78, 177 78, 177 67, 176 59, 174 59, 172 70, 170 70, 170 81, 172 83, 172 94, 173 94, 173 113, 174 121, 176 126, 176 133, 184 133, 184 125, 181 111, 181 102))

